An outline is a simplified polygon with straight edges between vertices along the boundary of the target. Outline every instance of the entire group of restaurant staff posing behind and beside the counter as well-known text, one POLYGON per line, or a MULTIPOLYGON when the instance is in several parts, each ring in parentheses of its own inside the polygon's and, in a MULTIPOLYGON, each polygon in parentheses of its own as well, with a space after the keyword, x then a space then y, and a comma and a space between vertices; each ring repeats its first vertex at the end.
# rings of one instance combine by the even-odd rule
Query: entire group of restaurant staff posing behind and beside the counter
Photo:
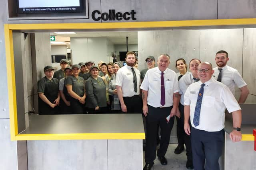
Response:
POLYGON ((38 82, 39 113, 57 113, 59 105, 63 106, 59 113, 143 113, 146 118, 143 170, 152 168, 156 150, 160 163, 167 164, 165 154, 176 117, 178 147, 174 152, 180 154, 186 145, 186 168, 218 170, 225 110, 233 115, 230 138, 240 141, 242 116, 238 103, 244 103, 249 94, 239 72, 227 65, 228 53, 216 53, 215 68, 211 63, 192 59, 191 72, 186 61, 178 59, 178 73, 168 68, 167 54, 158 57, 157 67, 154 57, 148 56, 148 68, 141 72, 134 67, 135 56, 128 52, 123 67, 120 63, 103 62, 96 66, 93 61, 67 67, 68 62, 62 60, 61 69, 53 74, 52 66, 46 66, 45 77, 38 82), (241 90, 238 102, 234 98, 235 86, 241 90))

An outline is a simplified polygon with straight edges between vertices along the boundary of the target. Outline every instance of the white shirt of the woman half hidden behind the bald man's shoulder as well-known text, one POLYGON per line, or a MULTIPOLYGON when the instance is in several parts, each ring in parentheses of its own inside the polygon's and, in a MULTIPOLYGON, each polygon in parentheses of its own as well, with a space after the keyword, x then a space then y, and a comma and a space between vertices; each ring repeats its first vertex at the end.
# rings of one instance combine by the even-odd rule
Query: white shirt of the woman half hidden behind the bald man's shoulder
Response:
POLYGON ((182 76, 182 78, 180 78, 179 80, 179 87, 180 87, 180 92, 179 94, 181 94, 180 96, 180 104, 184 105, 184 94, 188 88, 188 86, 194 82, 196 82, 196 80, 193 80, 194 76, 193 74, 190 72, 190 74, 185 74, 184 76, 182 76))

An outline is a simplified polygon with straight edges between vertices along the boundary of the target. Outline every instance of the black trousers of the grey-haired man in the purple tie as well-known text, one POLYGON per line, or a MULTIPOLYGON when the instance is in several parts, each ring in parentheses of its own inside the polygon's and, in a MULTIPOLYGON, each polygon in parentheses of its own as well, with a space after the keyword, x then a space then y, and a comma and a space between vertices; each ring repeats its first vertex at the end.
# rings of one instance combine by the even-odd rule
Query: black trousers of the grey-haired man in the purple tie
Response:
POLYGON ((160 149, 157 150, 157 156, 164 156, 169 146, 170 135, 174 123, 174 117, 167 123, 166 117, 170 115, 171 107, 152 107, 148 105, 148 114, 146 116, 147 139, 145 150, 145 162, 153 164, 156 158, 156 134, 158 126, 160 127, 160 149))

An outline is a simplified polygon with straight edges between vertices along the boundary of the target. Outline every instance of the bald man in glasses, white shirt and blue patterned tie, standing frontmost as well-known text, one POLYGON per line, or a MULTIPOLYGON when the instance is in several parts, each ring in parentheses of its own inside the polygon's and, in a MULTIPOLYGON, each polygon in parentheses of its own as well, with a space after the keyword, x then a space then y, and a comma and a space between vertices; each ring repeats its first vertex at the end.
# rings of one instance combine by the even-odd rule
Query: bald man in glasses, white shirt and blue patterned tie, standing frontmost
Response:
POLYGON ((225 110, 232 112, 233 142, 241 141, 241 108, 229 88, 212 78, 212 64, 198 66, 199 82, 188 86, 184 95, 184 130, 190 135, 193 164, 196 170, 219 170, 218 159, 224 144, 225 110), (190 116, 191 129, 188 123, 190 116))

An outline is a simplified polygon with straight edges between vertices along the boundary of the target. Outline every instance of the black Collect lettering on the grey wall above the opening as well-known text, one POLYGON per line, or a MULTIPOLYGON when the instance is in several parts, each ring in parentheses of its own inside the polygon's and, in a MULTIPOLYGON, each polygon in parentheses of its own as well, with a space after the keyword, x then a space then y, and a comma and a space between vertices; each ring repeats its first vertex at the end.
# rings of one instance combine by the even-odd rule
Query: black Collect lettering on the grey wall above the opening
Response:
POLYGON ((131 12, 116 12, 115 10, 108 10, 107 12, 104 12, 101 14, 101 12, 99 10, 94 10, 92 12, 92 19, 94 21, 99 21, 100 19, 102 19, 103 21, 114 21, 114 20, 136 20, 135 18, 135 14, 136 12, 134 12, 134 10, 131 10, 131 12))

